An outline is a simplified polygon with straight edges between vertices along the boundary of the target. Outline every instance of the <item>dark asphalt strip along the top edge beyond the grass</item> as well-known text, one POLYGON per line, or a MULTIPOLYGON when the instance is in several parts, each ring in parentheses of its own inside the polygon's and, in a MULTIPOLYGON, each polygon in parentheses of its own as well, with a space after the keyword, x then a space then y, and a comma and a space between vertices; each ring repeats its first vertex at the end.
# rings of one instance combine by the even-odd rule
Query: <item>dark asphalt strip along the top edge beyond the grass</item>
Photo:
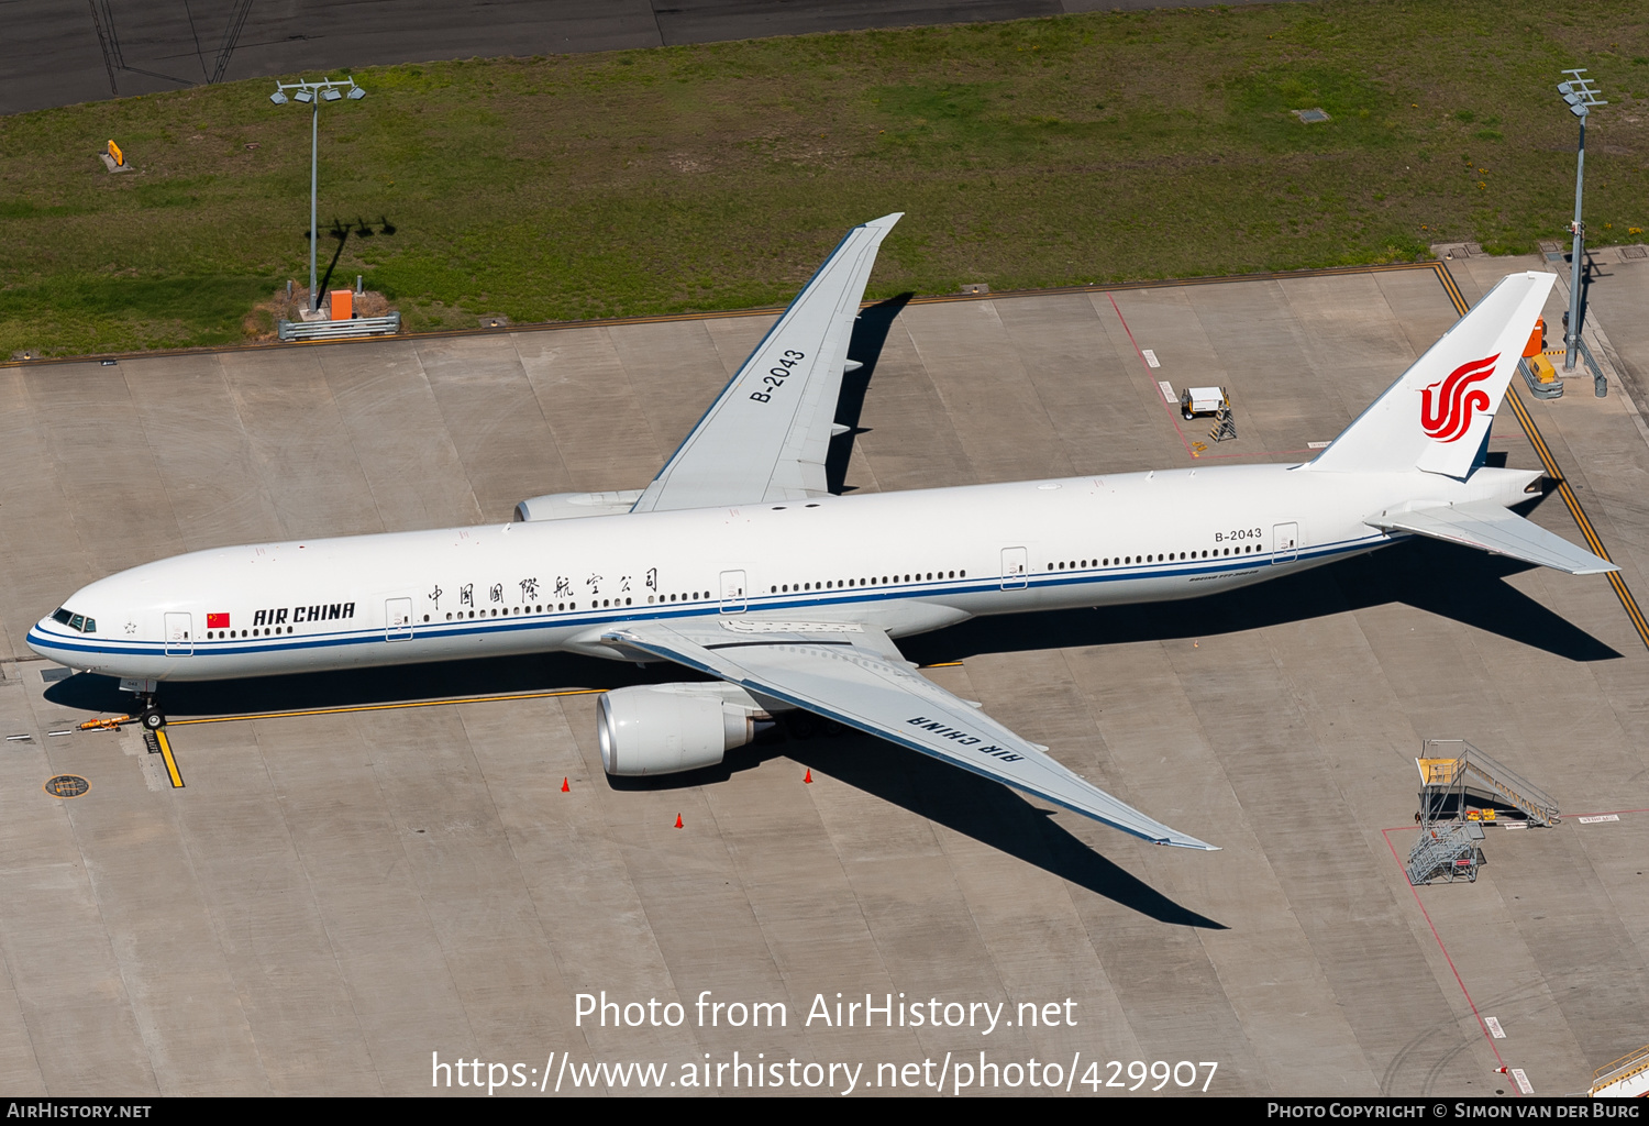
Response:
MULTIPOLYGON (((1250 0, 1233 0, 1245 3, 1250 0)), ((0 114, 300 69, 615 51, 1214 0, 0 0, 0 114), (239 26, 236 26, 239 20, 239 26)))

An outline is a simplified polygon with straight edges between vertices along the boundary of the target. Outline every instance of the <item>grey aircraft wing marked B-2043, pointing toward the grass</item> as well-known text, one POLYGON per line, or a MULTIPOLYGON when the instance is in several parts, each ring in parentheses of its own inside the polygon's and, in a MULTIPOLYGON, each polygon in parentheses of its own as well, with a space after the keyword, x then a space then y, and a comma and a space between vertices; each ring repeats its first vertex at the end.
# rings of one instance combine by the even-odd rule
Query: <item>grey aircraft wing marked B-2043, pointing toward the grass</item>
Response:
POLYGON ((902 214, 848 232, 632 513, 795 501, 829 491, 824 457, 848 340, 876 251, 902 214))

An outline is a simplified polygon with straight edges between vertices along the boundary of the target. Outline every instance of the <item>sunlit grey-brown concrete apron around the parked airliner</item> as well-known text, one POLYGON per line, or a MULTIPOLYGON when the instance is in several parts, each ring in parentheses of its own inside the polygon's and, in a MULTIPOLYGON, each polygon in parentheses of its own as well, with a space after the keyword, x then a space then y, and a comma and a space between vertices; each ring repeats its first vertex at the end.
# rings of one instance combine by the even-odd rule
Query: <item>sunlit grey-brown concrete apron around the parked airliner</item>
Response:
MULTIPOLYGON (((1507 269, 1451 267, 1479 293, 1507 269)), ((1418 270, 1115 298, 907 307, 874 358, 848 483, 1194 465, 1156 379, 1210 371, 1238 391, 1242 457, 1332 437, 1454 318, 1418 270), (1136 343, 1159 341, 1149 369, 1136 343)), ((678 1078, 732 1052, 874 1073, 1080 1050, 1102 1081, 1110 1060, 1219 1060, 1225 1093, 1479 1095, 1504 1085, 1502 1058, 1558 1093, 1649 1039, 1649 814, 1634 813, 1649 809, 1649 653, 1603 579, 1468 552, 1400 547, 1242 598, 910 643, 963 659, 935 681, 1215 854, 851 735, 615 788, 587 692, 175 722, 185 790, 132 735, 46 735, 89 697, 48 686, 18 646, 73 582, 224 537, 505 519, 528 495, 637 488, 767 323, 0 371, 0 547, 16 577, 0 597, 0 724, 31 735, 0 753, 8 1090, 420 1093, 432 1052, 538 1070, 551 1052, 656 1060, 678 1078), (84 458, 78 429, 99 435, 84 458), (132 508, 101 523, 110 495, 132 508), (1565 809, 1621 821, 1496 829, 1478 884, 1415 894, 1400 854, 1428 735, 1473 739, 1565 809), (46 796, 63 770, 91 793, 46 796), (686 1019, 579 1020, 576 994, 602 991, 686 1019), (704 991, 780 1002, 787 1022, 699 1027, 704 991), (984 1037, 806 1019, 838 992, 1012 1014, 1070 997, 1077 1024, 984 1037)), ((1529 411, 1636 589, 1649 443, 1624 401, 1576 391, 1590 386, 1529 411)), ((1537 463, 1512 415, 1497 430, 1492 450, 1537 463)), ((1578 539, 1557 498, 1534 518, 1578 539)), ((508 676, 579 691, 628 673, 557 659, 508 676)), ((290 692, 366 704, 396 687, 290 692)), ((233 709, 236 689, 214 699, 233 709)))

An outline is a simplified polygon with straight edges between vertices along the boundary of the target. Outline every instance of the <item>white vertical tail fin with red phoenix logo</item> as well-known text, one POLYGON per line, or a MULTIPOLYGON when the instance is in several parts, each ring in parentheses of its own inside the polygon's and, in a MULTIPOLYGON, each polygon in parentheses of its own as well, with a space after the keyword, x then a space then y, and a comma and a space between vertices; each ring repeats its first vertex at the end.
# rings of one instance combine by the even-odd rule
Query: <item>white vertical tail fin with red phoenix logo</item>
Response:
POLYGON ((1555 274, 1507 274, 1303 468, 1468 476, 1555 274))

